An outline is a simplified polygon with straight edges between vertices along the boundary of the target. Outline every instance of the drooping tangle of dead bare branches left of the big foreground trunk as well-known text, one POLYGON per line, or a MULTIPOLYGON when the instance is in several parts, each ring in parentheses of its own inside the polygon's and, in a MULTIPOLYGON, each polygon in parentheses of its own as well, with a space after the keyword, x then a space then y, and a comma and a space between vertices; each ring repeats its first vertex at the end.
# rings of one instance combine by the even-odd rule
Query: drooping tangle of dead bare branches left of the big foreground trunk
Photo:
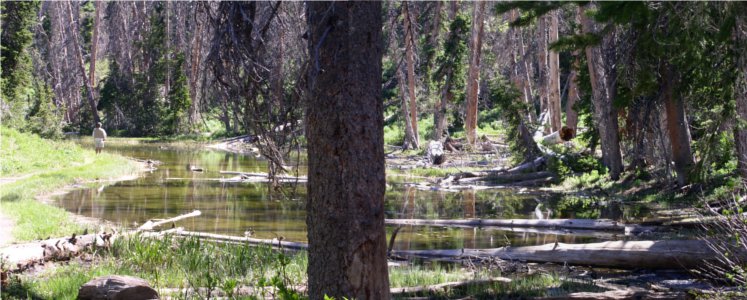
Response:
POLYGON ((301 95, 275 95, 284 91, 273 88, 271 80, 276 64, 282 63, 273 63, 277 56, 269 53, 269 43, 283 41, 270 34, 280 24, 280 8, 280 2, 222 2, 207 7, 214 33, 206 63, 214 80, 236 96, 229 101, 234 113, 242 116, 237 125, 256 139, 260 154, 268 160, 273 186, 278 184, 275 175, 287 171, 285 157, 298 143, 296 129, 302 113, 301 95))

